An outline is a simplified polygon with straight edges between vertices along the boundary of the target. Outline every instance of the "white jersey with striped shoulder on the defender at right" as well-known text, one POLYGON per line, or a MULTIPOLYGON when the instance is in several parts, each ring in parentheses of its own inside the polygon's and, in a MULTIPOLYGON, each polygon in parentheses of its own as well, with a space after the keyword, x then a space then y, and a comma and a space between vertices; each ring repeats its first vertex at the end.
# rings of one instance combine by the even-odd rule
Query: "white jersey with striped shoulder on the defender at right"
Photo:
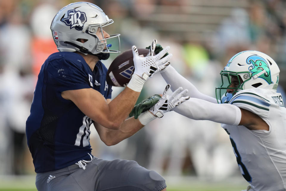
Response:
POLYGON ((286 108, 281 94, 260 88, 241 90, 229 104, 257 114, 269 125, 269 131, 221 125, 229 134, 243 177, 255 191, 286 190, 286 108))

